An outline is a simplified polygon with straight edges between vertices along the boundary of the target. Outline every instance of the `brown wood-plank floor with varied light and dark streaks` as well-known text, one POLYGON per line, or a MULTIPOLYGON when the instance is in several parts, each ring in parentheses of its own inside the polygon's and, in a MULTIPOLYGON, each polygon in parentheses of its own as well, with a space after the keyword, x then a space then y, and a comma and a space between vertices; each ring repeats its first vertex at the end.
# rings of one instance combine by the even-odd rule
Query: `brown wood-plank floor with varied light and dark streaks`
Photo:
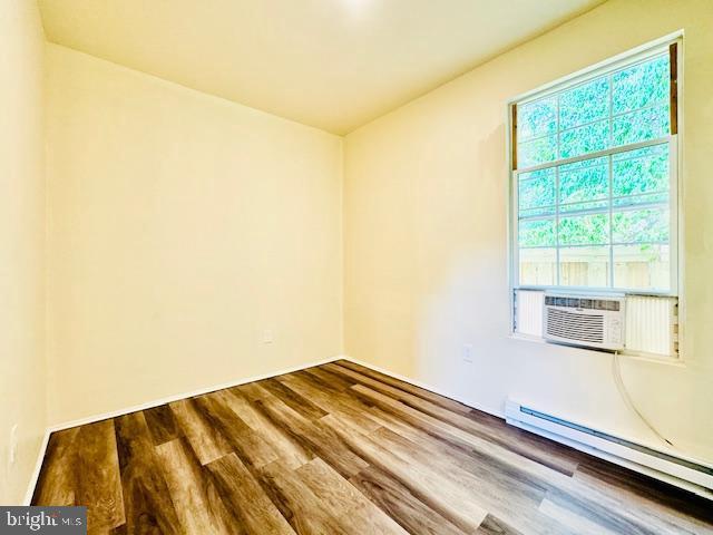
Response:
POLYGON ((711 502, 348 361, 52 434, 96 534, 713 533, 711 502))

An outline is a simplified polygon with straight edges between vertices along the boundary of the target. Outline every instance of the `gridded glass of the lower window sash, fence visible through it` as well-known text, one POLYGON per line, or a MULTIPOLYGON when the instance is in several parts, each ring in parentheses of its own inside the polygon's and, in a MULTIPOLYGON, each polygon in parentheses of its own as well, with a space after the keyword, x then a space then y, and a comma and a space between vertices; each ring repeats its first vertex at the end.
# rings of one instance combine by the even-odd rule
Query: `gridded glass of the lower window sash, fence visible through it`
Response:
POLYGON ((520 173, 518 183, 520 285, 670 290, 667 143, 520 173))

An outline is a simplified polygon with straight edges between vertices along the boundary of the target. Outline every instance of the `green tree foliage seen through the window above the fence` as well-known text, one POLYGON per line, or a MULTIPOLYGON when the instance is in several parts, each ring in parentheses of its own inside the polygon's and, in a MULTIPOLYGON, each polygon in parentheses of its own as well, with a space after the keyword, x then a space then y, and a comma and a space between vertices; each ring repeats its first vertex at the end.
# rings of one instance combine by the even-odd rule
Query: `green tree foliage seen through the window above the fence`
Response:
MULTIPOLYGON (((668 56, 662 55, 522 105, 520 168, 666 136, 668 84, 668 56)), ((520 247, 638 243, 645 252, 670 239, 668 146, 520 173, 518 208, 520 247)))

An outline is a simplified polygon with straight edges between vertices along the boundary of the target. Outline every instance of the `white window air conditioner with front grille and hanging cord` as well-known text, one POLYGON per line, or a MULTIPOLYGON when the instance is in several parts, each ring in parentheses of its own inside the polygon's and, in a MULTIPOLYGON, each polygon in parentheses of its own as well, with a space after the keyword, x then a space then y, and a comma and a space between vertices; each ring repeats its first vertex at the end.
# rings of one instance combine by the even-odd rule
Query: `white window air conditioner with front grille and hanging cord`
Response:
POLYGON ((587 348, 624 349, 624 296, 546 293, 543 338, 587 348))

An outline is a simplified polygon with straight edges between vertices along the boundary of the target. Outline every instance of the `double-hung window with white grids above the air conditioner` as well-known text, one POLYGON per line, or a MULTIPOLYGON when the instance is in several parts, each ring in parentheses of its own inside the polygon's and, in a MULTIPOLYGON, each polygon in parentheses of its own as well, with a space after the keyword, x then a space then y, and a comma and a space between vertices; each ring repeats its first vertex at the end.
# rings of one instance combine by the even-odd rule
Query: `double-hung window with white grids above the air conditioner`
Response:
POLYGON ((677 43, 511 105, 512 285, 675 295, 677 43))

